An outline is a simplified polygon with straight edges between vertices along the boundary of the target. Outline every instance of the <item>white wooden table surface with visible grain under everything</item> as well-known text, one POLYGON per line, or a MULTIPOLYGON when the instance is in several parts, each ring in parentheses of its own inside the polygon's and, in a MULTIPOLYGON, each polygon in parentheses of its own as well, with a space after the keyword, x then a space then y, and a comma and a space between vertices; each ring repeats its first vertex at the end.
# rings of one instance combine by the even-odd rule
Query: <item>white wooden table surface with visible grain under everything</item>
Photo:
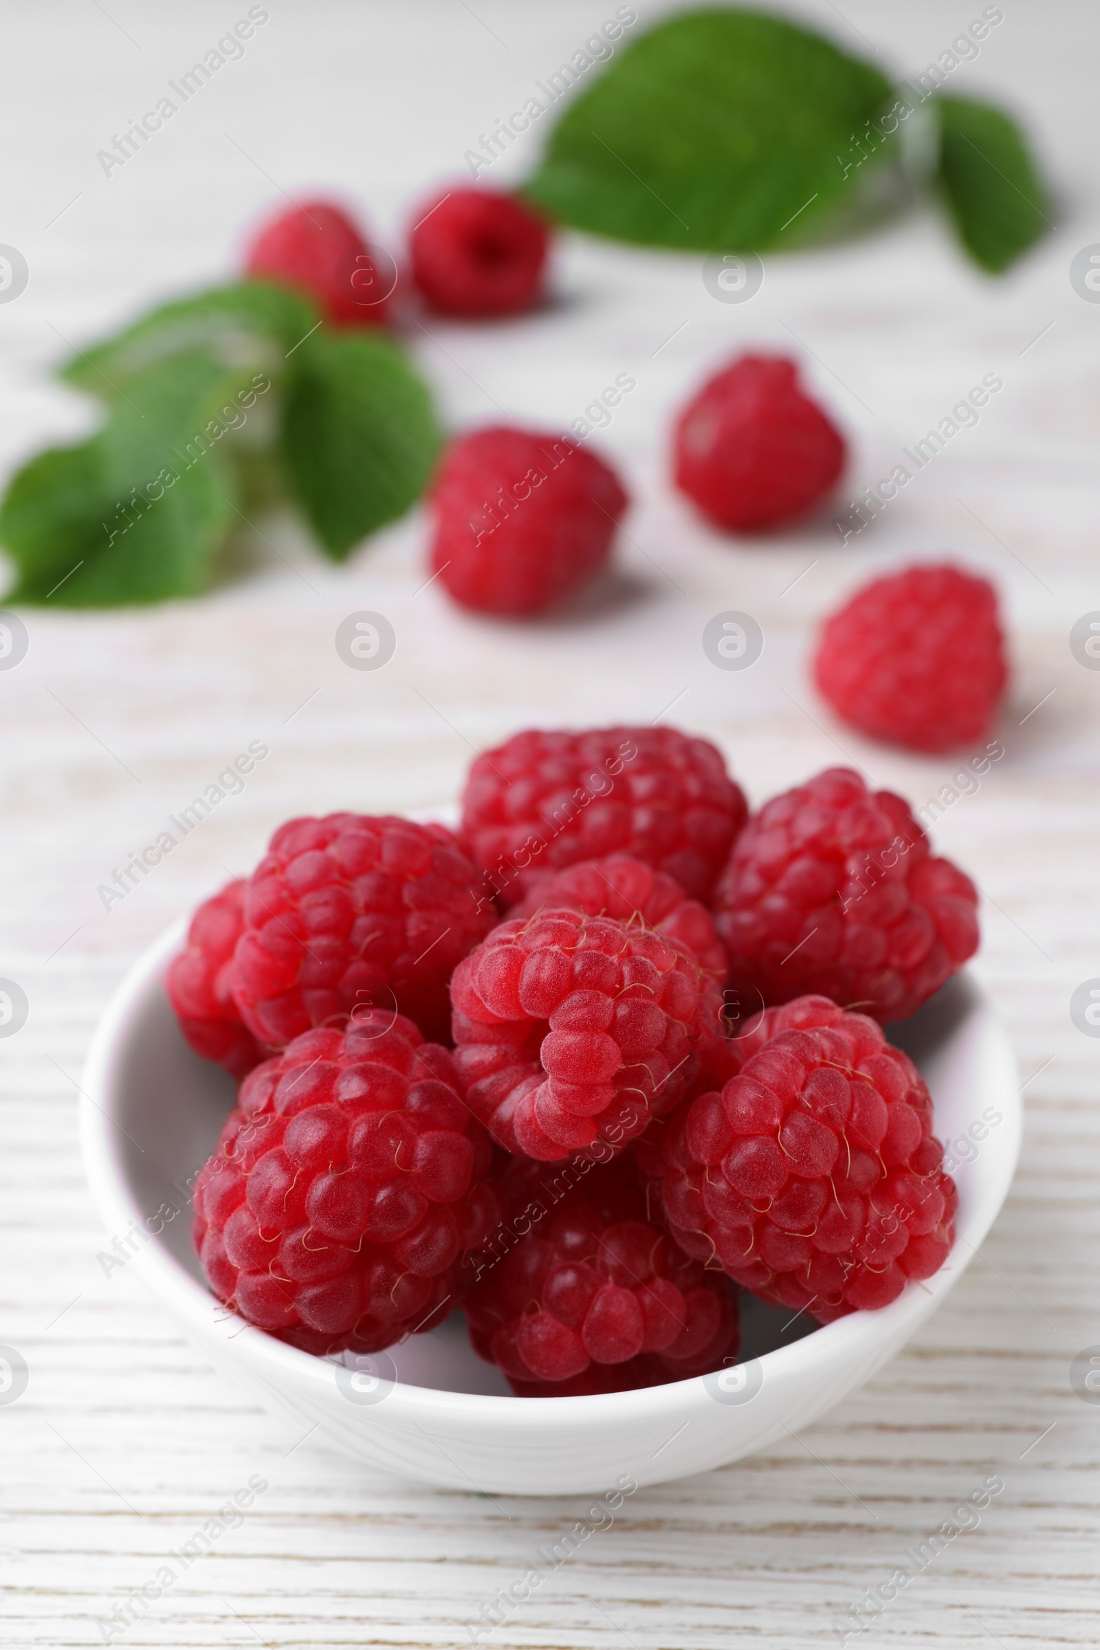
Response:
MULTIPOLYGON (((411 201, 518 106, 612 7, 557 0, 272 3, 226 64, 125 168, 96 152, 231 26, 239 8, 172 15, 59 0, 5 18, 0 241, 31 280, 0 309, 5 474, 87 412, 45 376, 172 290, 218 279, 279 190, 336 188, 394 239, 411 201)), ((642 7, 653 15, 660 7, 642 7)), ((805 0, 854 50, 920 69, 980 7, 805 0)), ((0 1341, 30 1366, 0 1407, 0 1643, 92 1645, 99 1620, 244 1485, 239 1530, 122 1637, 143 1645, 457 1645, 482 1600, 577 1516, 371 1478, 247 1407, 127 1269, 104 1275, 84 1188, 76 1082, 91 1028, 137 952, 294 812, 411 810, 454 795, 472 747, 528 724, 670 719, 716 738, 754 800, 836 761, 922 805, 943 761, 836 728, 806 680, 838 592, 950 553, 1004 596, 1014 686, 1001 761, 940 822, 986 894, 978 972, 1019 1053, 1029 1122, 1014 1191, 983 1254, 909 1351, 765 1457, 640 1492, 562 1566, 495 1647, 838 1643, 833 1620, 886 1581, 960 1497, 1004 1492, 861 1638, 867 1647, 1097 1642, 1100 1411, 1069 1365, 1100 1341, 1100 1043, 1069 1018, 1100 975, 1100 675, 1069 650, 1100 609, 1100 309, 1069 284, 1100 239, 1093 7, 1014 0, 976 63, 1041 134, 1064 228, 1003 282, 973 274, 930 214, 769 262, 745 305, 704 290, 699 259, 566 243, 559 302, 500 328, 414 328, 452 422, 559 424, 617 373, 637 391, 602 441, 635 510, 622 576, 592 610, 526 629, 450 609, 411 518, 345 569, 290 521, 264 525, 247 574, 201 602, 28 612, 30 652, 0 673, 0 974, 30 1018, 0 1043, 0 1341), (876 480, 983 373, 1004 389, 848 548, 806 526, 769 548, 704 533, 670 492, 665 429, 688 386, 747 345, 795 351, 876 480), (279 554, 274 554, 279 551, 279 554), (282 558, 282 559, 280 559, 282 558), (356 609, 389 615, 386 670, 335 653, 356 609), (764 627, 762 660, 703 655, 722 609, 764 627), (1039 706, 1039 708, 1036 708, 1039 706), (251 739, 270 757, 155 874, 106 912, 96 888, 251 739)), ((538 134, 493 170, 518 177, 538 134)))

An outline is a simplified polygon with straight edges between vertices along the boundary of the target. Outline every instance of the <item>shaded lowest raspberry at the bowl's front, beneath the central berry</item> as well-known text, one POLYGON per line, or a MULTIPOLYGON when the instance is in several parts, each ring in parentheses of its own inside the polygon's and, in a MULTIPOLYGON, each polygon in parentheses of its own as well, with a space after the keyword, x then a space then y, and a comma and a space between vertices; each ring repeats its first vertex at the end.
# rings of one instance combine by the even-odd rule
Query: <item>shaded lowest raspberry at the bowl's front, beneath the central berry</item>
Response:
POLYGON ((653 1386, 737 1351, 726 1279, 653 1224, 628 1160, 577 1165, 551 1185, 516 1160, 500 1198, 505 1224, 477 1257, 465 1313, 475 1351, 519 1396, 653 1386))

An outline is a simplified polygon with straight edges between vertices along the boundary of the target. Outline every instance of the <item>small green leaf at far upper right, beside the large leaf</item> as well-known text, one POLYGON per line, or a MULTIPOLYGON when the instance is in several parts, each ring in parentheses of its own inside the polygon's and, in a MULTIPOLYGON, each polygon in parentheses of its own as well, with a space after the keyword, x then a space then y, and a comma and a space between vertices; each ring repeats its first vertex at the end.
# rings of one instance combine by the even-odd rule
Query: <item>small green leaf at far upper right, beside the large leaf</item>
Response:
POLYGON ((937 185, 960 241, 999 274, 1052 229, 1051 200, 1016 122, 991 104, 937 97, 937 185))

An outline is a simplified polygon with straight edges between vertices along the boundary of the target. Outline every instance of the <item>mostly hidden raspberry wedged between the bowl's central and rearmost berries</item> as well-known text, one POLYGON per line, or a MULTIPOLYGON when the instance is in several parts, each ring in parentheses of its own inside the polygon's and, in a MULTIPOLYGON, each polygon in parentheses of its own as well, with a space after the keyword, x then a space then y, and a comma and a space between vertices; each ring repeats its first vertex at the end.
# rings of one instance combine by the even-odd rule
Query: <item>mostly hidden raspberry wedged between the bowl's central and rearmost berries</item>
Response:
POLYGON ((584 911, 590 917, 617 917, 620 922, 638 921, 684 945, 719 985, 726 983, 729 957, 714 932, 711 912, 698 899, 688 899, 675 876, 655 871, 628 853, 581 860, 564 871, 538 871, 510 914, 531 917, 544 906, 584 911))

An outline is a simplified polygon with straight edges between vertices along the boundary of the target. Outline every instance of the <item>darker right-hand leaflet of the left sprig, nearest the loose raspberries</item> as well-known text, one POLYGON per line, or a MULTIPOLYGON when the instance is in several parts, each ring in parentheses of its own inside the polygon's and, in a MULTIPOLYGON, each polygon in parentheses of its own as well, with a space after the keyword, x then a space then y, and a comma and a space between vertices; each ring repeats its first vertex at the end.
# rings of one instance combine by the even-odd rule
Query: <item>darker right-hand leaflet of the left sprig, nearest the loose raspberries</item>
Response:
POLYGON ((440 432, 402 350, 374 332, 315 333, 287 389, 282 454, 333 561, 424 492, 440 432))

